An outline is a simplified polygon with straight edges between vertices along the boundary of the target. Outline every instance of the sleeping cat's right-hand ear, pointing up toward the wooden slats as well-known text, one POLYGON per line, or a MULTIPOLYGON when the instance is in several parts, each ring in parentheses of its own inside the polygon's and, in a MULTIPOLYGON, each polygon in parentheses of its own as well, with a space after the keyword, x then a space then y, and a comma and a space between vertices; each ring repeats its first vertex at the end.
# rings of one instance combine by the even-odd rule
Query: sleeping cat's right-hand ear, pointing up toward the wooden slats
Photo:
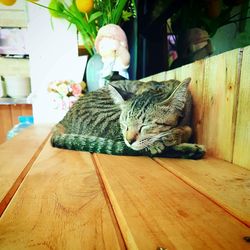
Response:
POLYGON ((164 105, 168 106, 172 112, 182 112, 185 107, 187 96, 188 96, 188 85, 191 78, 187 78, 182 81, 167 100, 163 102, 164 105))

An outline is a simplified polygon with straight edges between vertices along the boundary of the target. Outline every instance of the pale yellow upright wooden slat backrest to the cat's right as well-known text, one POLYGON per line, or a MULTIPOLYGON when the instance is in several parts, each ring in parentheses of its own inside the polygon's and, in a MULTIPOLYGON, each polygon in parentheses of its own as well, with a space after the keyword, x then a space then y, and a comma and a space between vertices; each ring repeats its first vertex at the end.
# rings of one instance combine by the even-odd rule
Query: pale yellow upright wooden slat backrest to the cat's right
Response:
POLYGON ((206 146, 208 155, 250 169, 249 65, 250 46, 143 80, 191 77, 196 142, 206 146))

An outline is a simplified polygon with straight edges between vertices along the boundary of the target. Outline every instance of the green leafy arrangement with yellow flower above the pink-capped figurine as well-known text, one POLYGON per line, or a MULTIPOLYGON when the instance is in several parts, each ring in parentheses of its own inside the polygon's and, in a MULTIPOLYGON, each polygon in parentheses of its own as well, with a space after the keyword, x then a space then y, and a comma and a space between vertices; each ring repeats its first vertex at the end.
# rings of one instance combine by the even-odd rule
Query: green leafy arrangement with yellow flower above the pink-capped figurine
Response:
POLYGON ((52 17, 64 18, 74 24, 81 34, 84 46, 94 54, 94 41, 98 30, 106 24, 120 24, 136 16, 135 0, 28 0, 47 8, 52 17))

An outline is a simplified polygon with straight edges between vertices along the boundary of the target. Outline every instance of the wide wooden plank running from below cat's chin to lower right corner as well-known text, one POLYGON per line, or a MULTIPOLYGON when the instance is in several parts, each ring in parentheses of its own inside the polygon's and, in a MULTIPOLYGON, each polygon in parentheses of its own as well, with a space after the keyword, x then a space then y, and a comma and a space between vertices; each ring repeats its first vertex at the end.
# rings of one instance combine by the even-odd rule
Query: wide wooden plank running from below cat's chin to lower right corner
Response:
POLYGON ((249 228, 152 159, 95 160, 128 249, 249 249, 249 228))

